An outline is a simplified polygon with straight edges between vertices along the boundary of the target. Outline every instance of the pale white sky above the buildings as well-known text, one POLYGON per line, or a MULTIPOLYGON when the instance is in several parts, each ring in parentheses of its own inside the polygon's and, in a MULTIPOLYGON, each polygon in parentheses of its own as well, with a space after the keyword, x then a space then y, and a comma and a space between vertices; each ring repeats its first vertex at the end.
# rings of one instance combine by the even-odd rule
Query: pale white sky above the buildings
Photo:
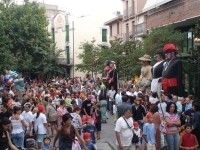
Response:
POLYGON ((38 0, 47 4, 58 5, 59 8, 69 12, 75 16, 89 15, 94 12, 95 9, 109 8, 110 12, 121 11, 122 13, 122 1, 121 0, 38 0))

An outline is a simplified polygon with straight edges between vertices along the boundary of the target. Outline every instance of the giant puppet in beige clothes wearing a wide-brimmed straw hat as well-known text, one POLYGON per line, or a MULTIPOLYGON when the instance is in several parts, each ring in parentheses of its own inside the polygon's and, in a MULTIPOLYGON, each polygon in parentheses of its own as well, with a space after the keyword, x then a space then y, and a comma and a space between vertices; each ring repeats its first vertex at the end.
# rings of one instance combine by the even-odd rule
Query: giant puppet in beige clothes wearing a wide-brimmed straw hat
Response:
POLYGON ((145 54, 144 56, 140 57, 139 60, 142 61, 142 68, 141 68, 141 74, 139 78, 139 87, 143 90, 143 92, 146 92, 148 95, 150 92, 151 87, 151 80, 152 80, 152 73, 151 73, 151 66, 150 66, 150 56, 145 54))

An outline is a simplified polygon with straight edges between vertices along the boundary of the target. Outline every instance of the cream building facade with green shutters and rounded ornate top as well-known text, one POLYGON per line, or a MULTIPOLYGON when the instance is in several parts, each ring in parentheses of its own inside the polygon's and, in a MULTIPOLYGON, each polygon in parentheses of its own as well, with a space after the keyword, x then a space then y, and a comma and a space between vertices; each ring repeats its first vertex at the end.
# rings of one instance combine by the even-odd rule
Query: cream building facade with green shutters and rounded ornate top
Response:
POLYGON ((102 8, 98 8, 91 14, 77 17, 59 10, 57 6, 42 5, 46 8, 48 30, 52 33, 57 49, 65 50, 59 58, 59 64, 64 67, 66 76, 85 77, 85 73, 75 71, 76 64, 82 63, 78 58, 83 52, 80 45, 82 42, 91 42, 95 39, 96 45, 109 46, 110 30, 108 26, 102 26, 102 23, 105 18, 111 18, 114 14, 109 9, 102 11, 102 8))

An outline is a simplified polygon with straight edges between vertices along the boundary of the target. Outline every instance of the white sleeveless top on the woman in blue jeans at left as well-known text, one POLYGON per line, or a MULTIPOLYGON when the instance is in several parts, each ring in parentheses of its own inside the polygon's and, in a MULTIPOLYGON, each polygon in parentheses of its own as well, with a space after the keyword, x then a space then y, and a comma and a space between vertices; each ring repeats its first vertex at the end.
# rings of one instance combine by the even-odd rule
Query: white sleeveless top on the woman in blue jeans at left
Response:
POLYGON ((19 116, 19 120, 12 120, 11 117, 9 118, 12 124, 12 134, 22 133, 24 132, 22 127, 22 120, 24 120, 23 116, 19 116))

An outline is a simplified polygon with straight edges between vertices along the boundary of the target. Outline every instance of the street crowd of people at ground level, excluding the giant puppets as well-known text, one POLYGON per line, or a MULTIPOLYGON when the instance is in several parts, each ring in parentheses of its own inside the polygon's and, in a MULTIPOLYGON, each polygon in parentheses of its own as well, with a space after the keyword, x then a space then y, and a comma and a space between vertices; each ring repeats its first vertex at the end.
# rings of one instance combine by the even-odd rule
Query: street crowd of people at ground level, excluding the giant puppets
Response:
POLYGON ((83 149, 95 150, 101 124, 107 123, 108 116, 113 117, 120 150, 199 146, 200 103, 192 95, 179 99, 161 91, 159 99, 156 93, 150 97, 143 94, 138 85, 127 88, 120 84, 118 91, 113 86, 106 90, 100 80, 80 78, 55 83, 26 84, 22 99, 15 94, 14 86, 0 91, 0 145, 6 142, 3 149, 30 148, 27 139, 35 138, 37 149, 70 150, 78 140, 83 149), (162 123, 167 125, 166 132, 160 129, 162 123), (134 134, 139 138, 137 143, 132 143, 134 134), (51 137, 55 137, 53 144, 51 137))

